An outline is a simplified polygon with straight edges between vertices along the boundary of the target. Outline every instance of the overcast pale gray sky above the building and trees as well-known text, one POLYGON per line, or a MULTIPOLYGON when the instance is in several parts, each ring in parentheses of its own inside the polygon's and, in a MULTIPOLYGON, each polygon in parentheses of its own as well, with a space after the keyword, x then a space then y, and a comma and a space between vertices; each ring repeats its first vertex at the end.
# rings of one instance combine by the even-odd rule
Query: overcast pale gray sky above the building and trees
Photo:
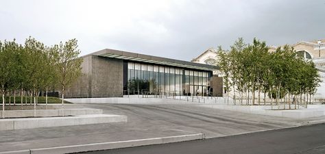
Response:
POLYGON ((0 40, 77 38, 82 55, 118 49, 191 60, 238 37, 269 45, 325 38, 325 0, 0 0, 0 40))

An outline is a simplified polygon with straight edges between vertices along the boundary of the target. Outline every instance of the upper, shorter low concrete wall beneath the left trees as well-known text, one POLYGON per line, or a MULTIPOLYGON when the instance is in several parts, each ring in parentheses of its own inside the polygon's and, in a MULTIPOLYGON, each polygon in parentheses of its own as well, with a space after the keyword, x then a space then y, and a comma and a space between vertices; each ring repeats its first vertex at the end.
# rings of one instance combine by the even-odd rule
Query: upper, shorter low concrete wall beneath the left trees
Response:
MULTIPOLYGON (((102 114, 101 109, 64 109, 64 116, 77 116, 84 114, 102 114)), ((2 115, 2 111, 0 111, 2 115)), ((34 110, 7 110, 6 118, 33 117, 34 110)), ((62 116, 62 110, 36 110, 36 116, 62 116)))

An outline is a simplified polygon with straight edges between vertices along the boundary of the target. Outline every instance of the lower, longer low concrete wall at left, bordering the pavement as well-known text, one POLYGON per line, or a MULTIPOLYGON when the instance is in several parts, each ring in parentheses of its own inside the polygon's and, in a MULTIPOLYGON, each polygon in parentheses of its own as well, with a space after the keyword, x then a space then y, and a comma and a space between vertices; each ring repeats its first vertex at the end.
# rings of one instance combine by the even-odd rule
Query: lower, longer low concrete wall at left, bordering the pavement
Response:
POLYGON ((32 129, 38 127, 59 127, 116 122, 127 122, 127 116, 110 114, 89 114, 80 116, 47 118, 7 118, 0 120, 0 130, 32 129))

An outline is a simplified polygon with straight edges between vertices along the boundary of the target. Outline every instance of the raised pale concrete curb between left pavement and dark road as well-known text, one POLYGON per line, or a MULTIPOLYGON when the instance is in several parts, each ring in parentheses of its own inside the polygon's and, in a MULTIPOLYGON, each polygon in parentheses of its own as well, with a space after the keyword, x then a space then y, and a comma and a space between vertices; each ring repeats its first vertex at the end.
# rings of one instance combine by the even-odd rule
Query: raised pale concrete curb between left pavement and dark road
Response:
POLYGON ((0 152, 0 154, 80 153, 86 151, 101 151, 101 150, 109 150, 109 149, 134 147, 134 146, 165 144, 171 142, 183 142, 189 140, 202 140, 202 139, 204 139, 203 133, 195 133, 190 135, 169 136, 163 138, 146 138, 146 139, 139 139, 139 140, 118 141, 118 142, 101 142, 101 143, 93 143, 93 144, 57 146, 57 147, 41 148, 41 149, 27 149, 21 151, 5 151, 5 152, 0 152))

